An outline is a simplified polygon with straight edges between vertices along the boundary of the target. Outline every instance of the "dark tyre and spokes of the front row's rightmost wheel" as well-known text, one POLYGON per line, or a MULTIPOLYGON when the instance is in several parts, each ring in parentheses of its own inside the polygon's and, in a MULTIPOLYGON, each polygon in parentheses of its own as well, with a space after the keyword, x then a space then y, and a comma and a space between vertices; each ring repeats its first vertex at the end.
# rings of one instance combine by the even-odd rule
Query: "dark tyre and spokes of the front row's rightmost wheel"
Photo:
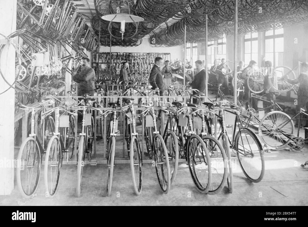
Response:
MULTIPOLYGON (((248 157, 248 158, 245 159, 245 160, 255 160, 255 161, 256 161, 256 160, 259 159, 259 158, 258 158, 258 155, 260 154, 261 166, 257 166, 257 165, 256 165, 256 162, 254 162, 253 165, 249 165, 250 168, 249 168, 249 167, 245 167, 245 166, 244 166, 245 161, 243 160, 243 157, 245 157, 245 156, 240 155, 239 152, 237 152, 237 159, 238 159, 238 161, 240 162, 241 169, 243 170, 243 173, 244 173, 245 176, 249 179, 249 181, 252 181, 252 182, 254 182, 254 183, 257 183, 257 182, 260 182, 260 181, 263 179, 264 172, 265 172, 264 151, 263 151, 261 142, 260 142, 260 140, 258 139, 257 135, 256 135, 252 130, 250 130, 250 129, 248 129, 248 128, 241 128, 241 129, 237 132, 236 136, 234 137, 234 146, 235 146, 235 149, 236 149, 237 151, 238 151, 238 149, 239 149, 239 139, 240 139, 242 133, 246 133, 246 134, 250 135, 250 137, 253 139, 253 141, 255 142, 256 147, 257 147, 257 149, 258 149, 258 150, 256 150, 255 153, 251 152, 251 153, 253 153, 253 157, 252 157, 252 158, 251 158, 251 157, 248 157), (253 167, 253 168, 251 168, 251 167, 253 167), (257 167, 259 167, 259 169, 257 169, 257 167), (257 169, 257 170, 260 170, 260 167, 261 167, 260 174, 257 173, 257 174, 255 174, 255 176, 253 176, 253 174, 248 173, 248 170, 249 170, 249 169, 252 169, 252 170, 257 169)), ((247 137, 246 137, 246 138, 247 138, 247 137)), ((244 142, 243 142, 243 138, 242 138, 242 137, 241 137, 241 141, 242 141, 242 143, 243 143, 242 147, 245 149, 245 147, 244 147, 245 145, 244 145, 244 142)), ((247 141, 247 144, 249 145, 249 147, 251 147, 251 146, 253 145, 253 143, 252 143, 251 141, 250 141, 250 142, 247 141)), ((246 146, 246 147, 247 147, 247 146, 246 146)), ((259 161, 259 162, 260 162, 260 161, 259 161)), ((251 163, 251 161, 248 161, 248 163, 249 163, 249 162, 251 163)), ((259 164, 260 164, 260 163, 259 163, 259 164)))

